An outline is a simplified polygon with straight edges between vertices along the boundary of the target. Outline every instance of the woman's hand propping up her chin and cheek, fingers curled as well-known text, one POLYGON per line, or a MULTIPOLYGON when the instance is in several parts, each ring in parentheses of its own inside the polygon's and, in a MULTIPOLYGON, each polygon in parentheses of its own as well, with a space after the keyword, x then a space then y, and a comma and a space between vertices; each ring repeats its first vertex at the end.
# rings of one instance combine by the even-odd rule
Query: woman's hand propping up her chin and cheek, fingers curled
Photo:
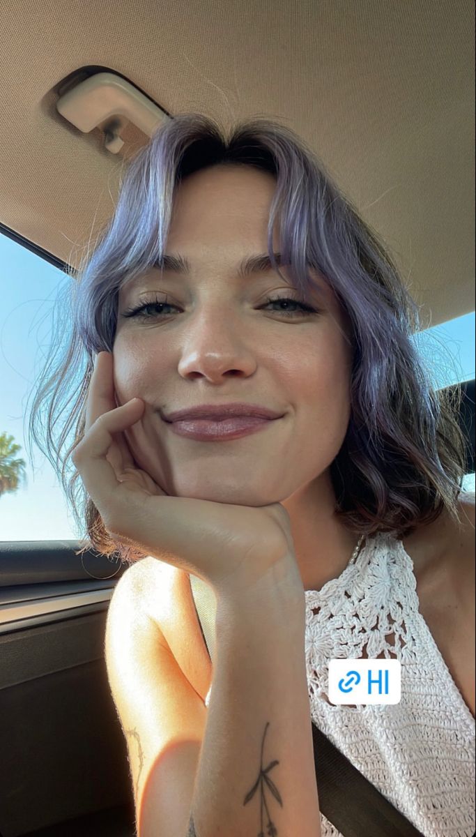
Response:
POLYGON ((99 352, 90 380, 84 437, 72 460, 105 528, 119 542, 179 567, 217 593, 274 588, 304 596, 288 512, 280 503, 233 506, 174 497, 137 467, 122 431, 145 402, 115 402, 113 356, 99 352))

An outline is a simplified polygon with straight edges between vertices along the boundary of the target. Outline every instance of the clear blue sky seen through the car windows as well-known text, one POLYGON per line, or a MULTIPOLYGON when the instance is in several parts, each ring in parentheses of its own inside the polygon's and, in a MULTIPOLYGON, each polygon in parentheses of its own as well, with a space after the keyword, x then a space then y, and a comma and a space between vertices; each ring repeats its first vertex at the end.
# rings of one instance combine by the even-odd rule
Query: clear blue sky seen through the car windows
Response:
MULTIPOLYGON (((75 539, 63 491, 39 450, 28 461, 25 414, 35 372, 50 341, 54 300, 67 277, 61 270, 0 233, 0 433, 14 437, 27 462, 26 480, 0 497, 0 541, 75 539)), ((438 388, 474 377, 474 311, 428 329, 417 345, 438 388)), ((474 490, 474 480, 468 480, 474 490)))

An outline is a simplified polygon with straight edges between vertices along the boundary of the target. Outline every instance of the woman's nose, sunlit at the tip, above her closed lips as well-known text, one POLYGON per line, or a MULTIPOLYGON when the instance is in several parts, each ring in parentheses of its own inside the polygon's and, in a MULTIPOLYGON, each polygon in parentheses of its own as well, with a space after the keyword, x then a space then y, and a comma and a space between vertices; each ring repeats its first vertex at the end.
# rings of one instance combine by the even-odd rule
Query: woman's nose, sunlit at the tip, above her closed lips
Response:
MULTIPOLYGON (((214 307, 214 306, 213 306, 214 307)), ((238 318, 223 308, 212 315, 193 317, 187 323, 178 372, 182 377, 207 378, 220 383, 224 376, 248 377, 257 367, 250 343, 240 333, 238 318)))

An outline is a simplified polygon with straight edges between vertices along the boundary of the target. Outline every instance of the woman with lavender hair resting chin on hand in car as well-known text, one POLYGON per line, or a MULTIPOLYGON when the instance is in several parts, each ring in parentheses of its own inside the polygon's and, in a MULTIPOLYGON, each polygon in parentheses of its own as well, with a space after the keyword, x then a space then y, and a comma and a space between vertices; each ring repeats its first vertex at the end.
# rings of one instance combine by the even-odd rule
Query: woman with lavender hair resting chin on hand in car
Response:
POLYGON ((376 234, 288 129, 255 120, 227 140, 182 115, 131 162, 72 284, 33 437, 51 403, 44 449, 77 469, 62 478, 79 525, 84 485, 90 544, 144 559, 151 585, 168 566, 217 598, 190 834, 338 834, 319 812, 309 706, 422 834, 473 834, 464 443, 376 234), (328 661, 366 656, 401 661, 400 704, 332 706, 328 661), (260 811, 255 747, 273 767, 258 763, 260 811))

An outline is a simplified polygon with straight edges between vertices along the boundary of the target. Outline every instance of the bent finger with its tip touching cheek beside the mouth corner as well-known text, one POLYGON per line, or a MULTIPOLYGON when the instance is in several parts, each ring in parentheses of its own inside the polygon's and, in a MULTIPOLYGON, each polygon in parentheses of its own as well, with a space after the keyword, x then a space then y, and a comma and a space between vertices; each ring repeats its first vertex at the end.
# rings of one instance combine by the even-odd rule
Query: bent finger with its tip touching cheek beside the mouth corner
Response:
POLYGON ((113 434, 135 424, 141 418, 143 407, 144 403, 137 398, 100 415, 88 434, 76 446, 71 457, 79 470, 84 488, 95 502, 95 506, 101 510, 101 516, 104 514, 105 523, 108 509, 116 507, 122 499, 118 494, 120 481, 114 468, 106 460, 106 454, 114 443, 113 434))

